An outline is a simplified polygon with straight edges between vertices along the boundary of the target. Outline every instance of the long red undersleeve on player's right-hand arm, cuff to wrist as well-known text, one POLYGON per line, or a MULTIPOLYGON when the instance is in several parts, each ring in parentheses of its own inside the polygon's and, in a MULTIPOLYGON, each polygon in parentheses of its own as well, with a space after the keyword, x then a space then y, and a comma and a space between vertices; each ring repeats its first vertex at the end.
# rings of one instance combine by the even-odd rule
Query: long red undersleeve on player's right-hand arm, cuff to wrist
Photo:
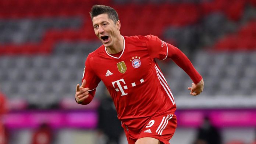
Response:
POLYGON ((171 58, 180 68, 182 68, 196 84, 202 80, 202 76, 196 71, 195 67, 192 65, 191 61, 186 57, 182 51, 178 48, 167 44, 170 50, 170 55, 168 58, 171 58))

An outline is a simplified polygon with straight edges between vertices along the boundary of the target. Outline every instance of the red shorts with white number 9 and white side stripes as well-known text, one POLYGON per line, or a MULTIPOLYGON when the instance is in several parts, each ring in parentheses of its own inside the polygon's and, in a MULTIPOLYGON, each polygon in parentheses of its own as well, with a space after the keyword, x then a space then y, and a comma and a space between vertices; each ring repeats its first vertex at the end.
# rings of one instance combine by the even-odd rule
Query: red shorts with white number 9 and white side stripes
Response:
POLYGON ((129 137, 127 130, 125 130, 125 135, 128 144, 135 144, 136 140, 142 137, 153 137, 158 139, 161 144, 170 144, 169 141, 173 137, 176 127, 176 115, 160 115, 152 117, 146 122, 137 139, 129 137))

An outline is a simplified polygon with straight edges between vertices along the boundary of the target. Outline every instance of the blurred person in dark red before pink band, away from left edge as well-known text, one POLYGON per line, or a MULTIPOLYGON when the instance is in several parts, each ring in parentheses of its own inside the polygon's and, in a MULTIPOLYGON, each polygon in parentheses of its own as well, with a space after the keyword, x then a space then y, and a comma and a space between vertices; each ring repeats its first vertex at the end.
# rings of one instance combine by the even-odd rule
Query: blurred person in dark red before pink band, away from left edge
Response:
POLYGON ((33 133, 31 144, 52 144, 53 133, 50 125, 42 123, 33 133))

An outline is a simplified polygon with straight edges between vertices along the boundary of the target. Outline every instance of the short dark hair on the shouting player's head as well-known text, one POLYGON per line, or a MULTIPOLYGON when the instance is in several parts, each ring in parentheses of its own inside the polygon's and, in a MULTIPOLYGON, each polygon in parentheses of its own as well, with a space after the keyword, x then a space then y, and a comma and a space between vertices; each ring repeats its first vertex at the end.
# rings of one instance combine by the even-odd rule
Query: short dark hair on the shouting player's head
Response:
POLYGON ((93 17, 96 17, 100 14, 109 15, 109 19, 112 19, 114 23, 116 23, 119 20, 117 11, 115 11, 114 8, 104 5, 94 5, 92 7, 92 10, 90 11, 90 17, 93 19, 93 17))

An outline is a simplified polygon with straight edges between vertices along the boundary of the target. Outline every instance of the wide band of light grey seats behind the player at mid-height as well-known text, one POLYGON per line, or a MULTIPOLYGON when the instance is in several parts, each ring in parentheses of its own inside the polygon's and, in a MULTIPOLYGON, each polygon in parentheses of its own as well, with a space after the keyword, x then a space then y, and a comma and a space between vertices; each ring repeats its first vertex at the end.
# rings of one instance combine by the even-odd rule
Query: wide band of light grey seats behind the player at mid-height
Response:
MULTIPOLYGON (((209 53, 198 52, 195 57, 200 57, 201 61, 206 61, 207 58, 216 59, 221 57, 227 57, 228 59, 235 60, 235 57, 239 57, 239 53, 209 53), (203 55, 206 55, 205 57, 203 55)), ((254 56, 248 54, 248 57, 254 56)), ((42 105, 50 105, 53 102, 60 101, 63 97, 74 97, 75 86, 77 83, 81 83, 84 60, 83 55, 48 55, 40 57, 0 57, 0 83, 1 91, 3 91, 8 98, 21 98, 25 99, 31 104, 38 104, 42 102, 42 105), (54 60, 58 62, 73 61, 75 63, 81 61, 77 67, 71 65, 63 65, 58 63, 56 65, 50 65, 49 68, 41 66, 29 66, 33 65, 35 61, 47 60, 54 63, 54 60), (31 60, 31 61, 29 61, 31 60), (5 62, 10 62, 8 65, 5 62), (12 62, 23 61, 15 65, 12 62), (26 62, 24 62, 26 61, 26 62), (31 63, 30 63, 31 62, 31 63), (15 66, 11 66, 15 65, 15 66), (8 67, 10 66, 10 67, 8 67), (46 100, 47 99, 47 100, 46 100), (46 101, 45 101, 46 100, 46 101)), ((223 58, 222 60, 225 60, 223 58)), ((198 65, 196 61, 192 60, 192 63, 203 76, 205 81, 205 89, 203 94, 208 96, 255 96, 254 87, 256 86, 256 68, 255 65, 245 64, 243 69, 230 65, 230 62, 224 63, 223 66, 218 66, 219 63, 213 63, 210 66, 198 65)), ((160 67, 161 67, 160 63, 160 67)), ((43 66, 43 65, 42 65, 43 66)), ((191 86, 192 80, 186 73, 173 63, 163 64, 163 73, 170 86, 171 91, 175 97, 188 96, 189 91, 187 87, 191 86)), ((100 93, 102 87, 97 90, 100 93)), ((100 94, 99 94, 100 95, 100 94)), ((39 104, 40 105, 40 104, 39 104)))

